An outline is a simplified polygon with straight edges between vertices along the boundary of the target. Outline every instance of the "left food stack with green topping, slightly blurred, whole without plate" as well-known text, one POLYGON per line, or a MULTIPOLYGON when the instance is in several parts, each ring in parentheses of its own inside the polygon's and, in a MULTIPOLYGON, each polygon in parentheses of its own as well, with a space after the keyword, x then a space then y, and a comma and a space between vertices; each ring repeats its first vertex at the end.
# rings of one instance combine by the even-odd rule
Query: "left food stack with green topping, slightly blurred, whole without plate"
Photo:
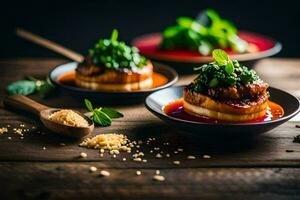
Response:
POLYGON ((138 49, 118 41, 100 39, 76 68, 75 83, 92 90, 132 91, 152 87, 153 66, 138 49))

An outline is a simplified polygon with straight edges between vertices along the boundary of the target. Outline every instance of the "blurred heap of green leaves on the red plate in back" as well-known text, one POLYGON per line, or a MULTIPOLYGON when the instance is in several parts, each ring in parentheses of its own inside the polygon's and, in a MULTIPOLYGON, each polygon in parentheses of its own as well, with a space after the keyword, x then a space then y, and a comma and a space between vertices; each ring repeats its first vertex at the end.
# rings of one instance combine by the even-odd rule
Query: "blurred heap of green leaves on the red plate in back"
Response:
POLYGON ((196 19, 177 18, 177 25, 163 31, 161 49, 187 49, 210 55, 216 47, 244 53, 248 43, 237 35, 236 27, 212 9, 204 10, 196 19))

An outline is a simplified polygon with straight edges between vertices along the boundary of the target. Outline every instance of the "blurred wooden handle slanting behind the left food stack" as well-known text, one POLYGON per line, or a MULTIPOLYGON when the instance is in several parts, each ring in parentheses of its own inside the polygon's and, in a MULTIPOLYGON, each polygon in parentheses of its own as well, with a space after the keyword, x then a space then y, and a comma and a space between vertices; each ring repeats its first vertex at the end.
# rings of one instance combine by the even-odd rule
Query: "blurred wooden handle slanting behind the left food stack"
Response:
POLYGON ((16 29, 17 36, 24 38, 26 40, 29 40, 33 43, 36 43, 38 45, 41 45, 43 47, 46 47, 47 49, 50 49, 56 53, 59 53, 71 60, 74 60, 76 62, 82 62, 84 60, 84 56, 82 56, 79 53, 76 53, 75 51, 72 51, 71 49, 68 49, 66 47, 63 47, 60 44, 57 44, 55 42, 52 42, 48 39, 45 39, 41 36, 38 36, 36 34, 33 34, 29 31, 25 31, 23 29, 17 28, 16 29))

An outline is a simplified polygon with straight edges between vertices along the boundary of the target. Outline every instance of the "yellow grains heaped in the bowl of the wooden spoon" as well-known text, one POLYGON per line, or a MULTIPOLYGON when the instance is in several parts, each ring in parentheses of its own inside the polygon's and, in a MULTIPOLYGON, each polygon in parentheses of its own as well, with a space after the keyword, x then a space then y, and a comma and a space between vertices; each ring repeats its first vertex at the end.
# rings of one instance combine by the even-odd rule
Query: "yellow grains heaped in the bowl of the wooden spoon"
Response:
POLYGON ((49 119, 59 124, 73 126, 73 127, 88 127, 88 122, 78 113, 72 110, 60 110, 52 113, 49 119))

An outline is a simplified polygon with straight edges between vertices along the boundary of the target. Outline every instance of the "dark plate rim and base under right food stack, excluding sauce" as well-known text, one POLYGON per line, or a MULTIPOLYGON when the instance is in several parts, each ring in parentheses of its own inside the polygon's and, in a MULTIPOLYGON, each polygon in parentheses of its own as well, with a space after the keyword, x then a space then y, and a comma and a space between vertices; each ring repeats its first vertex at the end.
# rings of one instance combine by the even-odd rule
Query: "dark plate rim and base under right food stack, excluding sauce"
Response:
POLYGON ((146 98, 145 104, 154 115, 182 131, 193 135, 239 135, 249 136, 267 132, 280 124, 288 121, 300 111, 300 103, 297 97, 276 88, 270 88, 270 100, 281 105, 284 116, 279 119, 259 123, 235 123, 235 124, 211 124, 187 121, 166 115, 162 107, 174 100, 182 98, 184 86, 171 87, 152 93, 146 98))

